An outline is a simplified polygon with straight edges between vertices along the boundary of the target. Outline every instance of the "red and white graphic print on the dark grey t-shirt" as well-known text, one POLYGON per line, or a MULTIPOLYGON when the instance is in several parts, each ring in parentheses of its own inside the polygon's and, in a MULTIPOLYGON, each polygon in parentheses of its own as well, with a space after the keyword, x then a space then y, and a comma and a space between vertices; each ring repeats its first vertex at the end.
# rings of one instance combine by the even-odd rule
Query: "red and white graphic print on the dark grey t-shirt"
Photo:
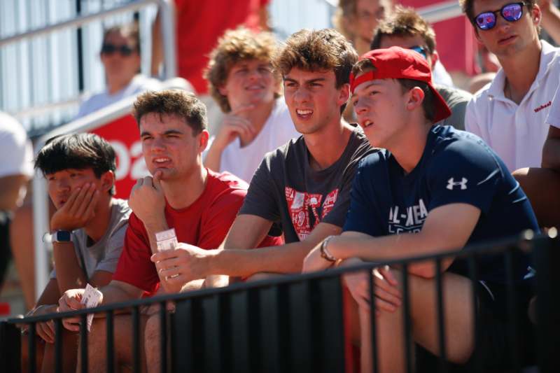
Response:
POLYGON ((286 192, 286 202, 292 224, 300 241, 309 236, 314 227, 332 210, 332 206, 335 206, 338 197, 338 189, 325 195, 324 200, 323 195, 318 193, 298 192, 288 187, 284 191, 286 192), (312 226, 310 213, 314 217, 312 226))

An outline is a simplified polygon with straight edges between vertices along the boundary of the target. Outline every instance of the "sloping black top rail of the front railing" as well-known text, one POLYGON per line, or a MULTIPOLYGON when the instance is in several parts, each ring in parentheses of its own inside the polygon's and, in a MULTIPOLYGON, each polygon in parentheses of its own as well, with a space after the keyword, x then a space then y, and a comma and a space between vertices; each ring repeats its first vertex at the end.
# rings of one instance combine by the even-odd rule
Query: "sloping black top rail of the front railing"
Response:
POLYGON ((189 293, 176 293, 176 294, 165 294, 165 295, 155 295, 153 297, 144 298, 141 300, 130 300, 127 302, 118 302, 118 303, 111 303, 111 304, 104 304, 100 307, 95 307, 91 309, 78 309, 76 311, 66 311, 66 312, 59 312, 55 314, 45 314, 40 316, 29 316, 27 318, 10 318, 8 319, 8 323, 32 323, 32 322, 41 322, 41 321, 48 321, 54 320, 57 318, 67 318, 67 317, 75 317, 82 314, 97 314, 104 311, 113 311, 116 309, 127 309, 132 308, 135 306, 142 306, 146 304, 153 304, 157 302, 165 302, 165 301, 173 301, 173 300, 186 300, 189 298, 195 297, 207 297, 209 295, 216 295, 221 293, 230 293, 235 291, 241 290, 248 290, 252 288, 262 288, 266 286, 277 286, 283 283, 295 283, 300 281, 306 281, 310 279, 326 279, 333 276, 340 276, 342 274, 346 274, 349 272, 359 272, 359 271, 367 271, 373 268, 379 267, 381 265, 403 265, 403 264, 411 264, 414 262, 423 262, 426 260, 436 260, 437 258, 444 259, 447 257, 455 257, 455 258, 466 258, 472 255, 476 255, 479 253, 484 252, 484 254, 493 254, 493 253, 503 253, 506 250, 515 247, 521 250, 528 250, 531 248, 531 242, 540 241, 543 239, 549 239, 549 237, 539 234, 535 238, 525 239, 527 237, 531 237, 532 232, 526 232, 521 235, 521 241, 519 237, 515 238, 508 238, 508 239, 500 239, 496 241, 488 241, 484 244, 475 244, 469 246, 468 248, 463 248, 461 250, 454 250, 454 251, 444 251, 441 253, 433 253, 427 255, 420 255, 416 257, 410 258, 400 258, 395 260, 384 260, 381 262, 365 262, 360 265, 349 266, 349 267, 339 267, 329 269, 328 271, 322 272, 312 272, 307 274, 286 274, 286 276, 277 277, 274 279, 264 279, 260 281, 254 281, 250 283, 234 283, 225 288, 208 288, 208 289, 200 289, 194 290, 189 293))

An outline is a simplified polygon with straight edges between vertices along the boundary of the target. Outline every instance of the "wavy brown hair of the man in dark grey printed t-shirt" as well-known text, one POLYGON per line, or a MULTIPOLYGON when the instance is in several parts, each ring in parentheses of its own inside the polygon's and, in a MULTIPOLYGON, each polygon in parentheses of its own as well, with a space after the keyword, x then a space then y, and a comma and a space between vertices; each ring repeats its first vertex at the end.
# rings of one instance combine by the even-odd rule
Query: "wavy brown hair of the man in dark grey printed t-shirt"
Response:
POLYGON ((274 68, 286 76, 297 67, 305 71, 332 70, 336 87, 349 83, 358 53, 335 29, 302 29, 292 34, 274 57, 274 68))

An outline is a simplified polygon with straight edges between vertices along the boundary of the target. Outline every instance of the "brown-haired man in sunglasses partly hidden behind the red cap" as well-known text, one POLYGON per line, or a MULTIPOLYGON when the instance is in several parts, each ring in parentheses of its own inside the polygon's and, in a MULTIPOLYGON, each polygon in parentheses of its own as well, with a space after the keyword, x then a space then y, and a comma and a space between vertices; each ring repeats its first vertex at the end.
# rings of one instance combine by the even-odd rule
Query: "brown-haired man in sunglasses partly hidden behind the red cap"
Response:
MULTIPOLYGON (((372 50, 393 46, 419 52, 426 59, 432 71, 439 59, 437 50, 435 50, 433 28, 413 8, 395 6, 394 12, 382 20, 375 29, 371 43, 372 50)), ((451 109, 451 116, 439 124, 465 129, 465 110, 472 95, 469 92, 444 85, 436 84, 435 89, 451 109)))

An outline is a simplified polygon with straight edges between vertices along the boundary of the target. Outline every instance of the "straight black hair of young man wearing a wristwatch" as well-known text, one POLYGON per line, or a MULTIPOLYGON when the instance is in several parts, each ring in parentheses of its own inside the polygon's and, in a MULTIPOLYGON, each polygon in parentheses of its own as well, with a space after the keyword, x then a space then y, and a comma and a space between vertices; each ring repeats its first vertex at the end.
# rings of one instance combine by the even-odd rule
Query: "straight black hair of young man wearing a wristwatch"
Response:
MULTIPOLYGON (((115 150, 97 134, 66 134, 48 139, 39 150, 35 168, 43 175, 65 169, 92 169, 97 178, 117 169, 115 150)), ((115 194, 115 185, 109 191, 115 194)))

